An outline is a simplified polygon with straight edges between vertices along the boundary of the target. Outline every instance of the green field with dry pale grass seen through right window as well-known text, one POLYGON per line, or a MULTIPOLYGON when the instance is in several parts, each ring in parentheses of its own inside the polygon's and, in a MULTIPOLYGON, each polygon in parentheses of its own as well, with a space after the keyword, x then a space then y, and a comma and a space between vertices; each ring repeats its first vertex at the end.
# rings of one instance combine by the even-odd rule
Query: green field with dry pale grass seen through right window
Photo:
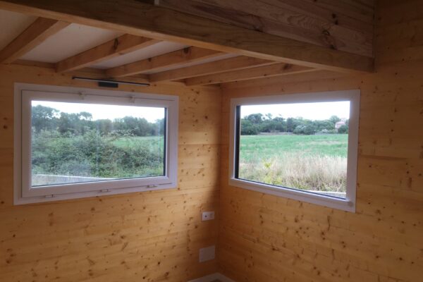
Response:
POLYGON ((348 135, 243 135, 240 178, 302 190, 345 192, 348 135))

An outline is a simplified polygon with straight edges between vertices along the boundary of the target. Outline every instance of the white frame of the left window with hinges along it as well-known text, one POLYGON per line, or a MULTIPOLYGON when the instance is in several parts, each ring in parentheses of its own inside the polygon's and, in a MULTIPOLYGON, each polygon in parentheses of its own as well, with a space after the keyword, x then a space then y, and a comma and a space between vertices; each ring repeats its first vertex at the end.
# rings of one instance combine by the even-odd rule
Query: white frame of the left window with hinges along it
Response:
POLYGON ((178 96, 51 85, 15 84, 14 203, 49 202, 176 188, 178 96), (165 175, 31 187, 31 101, 166 108, 165 175))

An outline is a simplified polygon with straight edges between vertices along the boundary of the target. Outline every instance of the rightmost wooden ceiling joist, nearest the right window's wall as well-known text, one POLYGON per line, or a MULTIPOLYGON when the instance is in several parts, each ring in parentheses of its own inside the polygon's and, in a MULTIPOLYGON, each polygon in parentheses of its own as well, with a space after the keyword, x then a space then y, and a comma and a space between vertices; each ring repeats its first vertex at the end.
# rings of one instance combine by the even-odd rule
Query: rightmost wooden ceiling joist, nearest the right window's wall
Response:
POLYGON ((294 73, 307 73, 317 71, 317 68, 308 68, 305 66, 294 66, 289 63, 277 63, 270 66, 259 66, 255 68, 246 68, 242 71, 228 71, 214 75, 204 75, 197 78, 188 78, 186 85, 209 85, 223 82, 232 82, 240 80, 251 80, 256 78, 270 78, 278 75, 290 75, 294 73))

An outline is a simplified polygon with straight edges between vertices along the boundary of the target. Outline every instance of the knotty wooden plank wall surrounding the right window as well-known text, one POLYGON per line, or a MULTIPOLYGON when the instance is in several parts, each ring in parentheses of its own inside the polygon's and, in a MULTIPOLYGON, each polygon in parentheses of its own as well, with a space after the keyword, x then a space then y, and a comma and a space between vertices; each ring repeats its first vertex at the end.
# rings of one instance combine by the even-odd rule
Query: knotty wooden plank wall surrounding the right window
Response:
POLYGON ((375 35, 374 74, 321 71, 223 86, 223 121, 231 97, 362 91, 355 214, 229 186, 222 123, 219 267, 226 276, 422 281, 423 1, 379 1, 375 35))

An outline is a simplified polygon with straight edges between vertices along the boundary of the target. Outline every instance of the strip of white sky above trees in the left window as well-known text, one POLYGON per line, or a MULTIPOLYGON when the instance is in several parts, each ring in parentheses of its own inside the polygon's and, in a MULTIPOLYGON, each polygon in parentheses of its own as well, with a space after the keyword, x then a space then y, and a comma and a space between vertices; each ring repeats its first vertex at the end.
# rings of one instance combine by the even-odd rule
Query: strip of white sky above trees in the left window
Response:
POLYGON ((87 111, 92 114, 92 120, 123 118, 125 116, 133 116, 136 118, 145 118, 150 123, 154 123, 157 119, 164 118, 164 108, 152 108, 145 106, 116 106, 102 104, 82 104, 82 103, 63 103, 63 102, 47 102, 32 101, 32 106, 49 106, 56 110, 77 114, 81 111, 87 111))

